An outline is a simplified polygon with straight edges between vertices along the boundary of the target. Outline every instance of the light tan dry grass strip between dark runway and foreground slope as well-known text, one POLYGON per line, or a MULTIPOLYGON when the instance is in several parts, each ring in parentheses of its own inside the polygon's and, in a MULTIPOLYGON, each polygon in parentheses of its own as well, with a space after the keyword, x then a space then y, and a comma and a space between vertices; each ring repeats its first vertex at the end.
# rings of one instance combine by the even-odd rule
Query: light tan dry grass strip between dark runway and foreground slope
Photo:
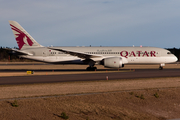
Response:
POLYGON ((180 78, 148 78, 0 86, 0 99, 169 87, 180 87, 180 78))

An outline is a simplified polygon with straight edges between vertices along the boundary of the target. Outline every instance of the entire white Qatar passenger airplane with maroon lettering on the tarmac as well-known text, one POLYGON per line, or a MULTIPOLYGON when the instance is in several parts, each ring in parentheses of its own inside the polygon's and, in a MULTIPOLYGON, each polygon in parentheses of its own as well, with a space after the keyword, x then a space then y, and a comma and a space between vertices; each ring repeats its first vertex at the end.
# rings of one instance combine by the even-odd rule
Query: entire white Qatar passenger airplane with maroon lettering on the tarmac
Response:
POLYGON ((166 63, 174 63, 177 57, 170 51, 157 47, 45 47, 40 45, 16 21, 9 21, 18 49, 11 49, 19 57, 52 64, 95 65, 107 68, 122 68, 125 64, 159 64, 162 70, 166 63))

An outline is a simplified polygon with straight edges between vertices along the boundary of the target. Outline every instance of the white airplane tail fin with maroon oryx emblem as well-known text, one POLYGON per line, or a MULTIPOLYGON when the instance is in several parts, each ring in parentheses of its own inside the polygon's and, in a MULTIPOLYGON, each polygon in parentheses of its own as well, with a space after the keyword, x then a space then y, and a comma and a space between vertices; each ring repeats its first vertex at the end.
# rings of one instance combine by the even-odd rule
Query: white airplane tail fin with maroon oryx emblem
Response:
POLYGON ((20 50, 32 47, 42 47, 19 23, 16 21, 9 21, 9 24, 20 50))

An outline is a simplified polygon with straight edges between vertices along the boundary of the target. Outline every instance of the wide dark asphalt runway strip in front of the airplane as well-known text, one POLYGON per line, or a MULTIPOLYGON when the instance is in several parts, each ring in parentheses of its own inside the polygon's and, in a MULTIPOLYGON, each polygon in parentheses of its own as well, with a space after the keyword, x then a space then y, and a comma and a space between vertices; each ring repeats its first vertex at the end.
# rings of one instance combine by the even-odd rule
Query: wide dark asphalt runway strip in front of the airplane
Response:
MULTIPOLYGON (((4 70, 3 72, 6 72, 4 70)), ((40 70, 39 70, 40 71, 40 70)), ((41 70, 43 71, 43 70, 41 70)), ((2 72, 2 71, 1 71, 2 72)), ((18 71, 16 71, 18 72, 18 71)), ((180 69, 137 69, 127 72, 103 72, 85 74, 64 74, 64 75, 30 75, 0 77, 0 85, 12 84, 33 84, 33 83, 55 83, 75 81, 98 81, 98 80, 131 80, 135 78, 159 78, 159 77, 180 77, 180 69)))

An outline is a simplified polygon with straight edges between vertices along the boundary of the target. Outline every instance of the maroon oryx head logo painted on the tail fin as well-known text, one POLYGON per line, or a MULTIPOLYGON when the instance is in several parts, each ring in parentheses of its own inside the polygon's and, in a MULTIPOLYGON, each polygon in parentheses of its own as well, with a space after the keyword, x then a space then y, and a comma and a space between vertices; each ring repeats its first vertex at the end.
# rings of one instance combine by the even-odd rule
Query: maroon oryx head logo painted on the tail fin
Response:
POLYGON ((17 27, 13 25, 11 25, 11 28, 12 30, 18 32, 18 34, 15 34, 15 35, 16 35, 16 41, 20 50, 25 44, 29 46, 33 45, 33 42, 31 41, 31 39, 25 33, 23 33, 23 31, 21 31, 20 29, 18 29, 17 27))

